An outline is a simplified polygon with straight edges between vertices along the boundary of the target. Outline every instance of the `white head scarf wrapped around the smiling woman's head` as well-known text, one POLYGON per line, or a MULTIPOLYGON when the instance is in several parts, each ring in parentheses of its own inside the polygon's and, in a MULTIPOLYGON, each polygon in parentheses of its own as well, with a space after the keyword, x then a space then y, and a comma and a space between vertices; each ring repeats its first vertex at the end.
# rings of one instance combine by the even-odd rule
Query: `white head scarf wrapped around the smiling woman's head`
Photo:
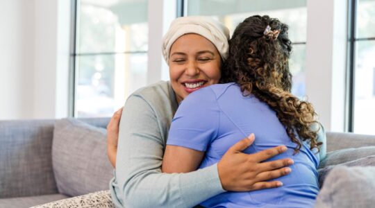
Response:
POLYGON ((228 55, 229 30, 224 24, 210 17, 178 17, 172 21, 169 30, 163 37, 162 50, 167 64, 172 44, 178 39, 178 37, 188 33, 195 33, 206 37, 206 39, 210 40, 210 42, 215 45, 217 51, 219 51, 222 56, 222 59, 226 59, 226 56, 228 55))

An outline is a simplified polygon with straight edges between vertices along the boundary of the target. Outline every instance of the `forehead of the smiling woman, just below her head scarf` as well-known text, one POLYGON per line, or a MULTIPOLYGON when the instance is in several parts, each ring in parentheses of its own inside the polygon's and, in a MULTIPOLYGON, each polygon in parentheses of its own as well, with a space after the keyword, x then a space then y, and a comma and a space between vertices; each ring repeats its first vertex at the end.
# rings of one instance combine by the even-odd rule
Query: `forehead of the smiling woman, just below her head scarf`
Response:
POLYGON ((174 51, 212 51, 213 53, 219 53, 215 45, 198 34, 188 33, 178 37, 178 39, 171 46, 171 53, 174 51))

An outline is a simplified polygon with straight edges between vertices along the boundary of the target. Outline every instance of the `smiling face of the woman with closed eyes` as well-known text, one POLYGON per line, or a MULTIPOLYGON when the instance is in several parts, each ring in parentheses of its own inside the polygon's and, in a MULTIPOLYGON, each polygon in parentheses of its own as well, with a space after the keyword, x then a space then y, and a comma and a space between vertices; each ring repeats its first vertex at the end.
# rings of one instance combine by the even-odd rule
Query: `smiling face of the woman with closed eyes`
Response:
POLYGON ((190 93, 219 83, 219 51, 205 37, 186 34, 172 44, 169 55, 169 78, 180 103, 190 93))

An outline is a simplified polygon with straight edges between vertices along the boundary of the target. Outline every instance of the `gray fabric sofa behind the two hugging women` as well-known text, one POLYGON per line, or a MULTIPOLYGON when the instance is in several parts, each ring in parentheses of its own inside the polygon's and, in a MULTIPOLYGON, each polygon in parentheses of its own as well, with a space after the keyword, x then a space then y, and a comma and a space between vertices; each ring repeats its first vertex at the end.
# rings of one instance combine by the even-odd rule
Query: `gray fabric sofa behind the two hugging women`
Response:
MULTIPOLYGON (((0 207, 31 207, 108 189, 109 119, 0 121, 0 207)), ((327 132, 320 182, 338 164, 375 155, 375 135, 327 132)), ((354 161, 354 162, 353 162, 354 161)))

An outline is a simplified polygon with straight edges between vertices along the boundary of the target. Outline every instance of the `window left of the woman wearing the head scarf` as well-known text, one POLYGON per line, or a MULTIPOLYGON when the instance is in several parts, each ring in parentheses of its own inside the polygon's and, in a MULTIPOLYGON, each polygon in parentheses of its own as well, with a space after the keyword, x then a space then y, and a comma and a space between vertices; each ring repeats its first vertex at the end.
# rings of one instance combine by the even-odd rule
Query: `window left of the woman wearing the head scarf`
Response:
POLYGON ((147 0, 77 0, 74 116, 111 116, 147 82, 147 0))

